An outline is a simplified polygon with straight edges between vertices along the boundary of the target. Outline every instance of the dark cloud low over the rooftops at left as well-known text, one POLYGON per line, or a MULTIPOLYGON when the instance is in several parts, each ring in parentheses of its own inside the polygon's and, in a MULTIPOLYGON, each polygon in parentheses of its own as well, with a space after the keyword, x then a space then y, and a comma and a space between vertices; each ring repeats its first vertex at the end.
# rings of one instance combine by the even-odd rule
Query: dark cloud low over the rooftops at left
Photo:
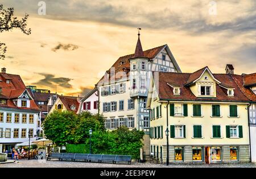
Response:
POLYGON ((53 74, 47 74, 47 73, 38 73, 38 74, 44 76, 44 78, 36 82, 35 85, 49 86, 51 88, 55 88, 55 85, 57 85, 63 88, 72 88, 72 85, 69 84, 69 82, 72 80, 71 78, 64 78, 64 77, 56 78, 53 74))

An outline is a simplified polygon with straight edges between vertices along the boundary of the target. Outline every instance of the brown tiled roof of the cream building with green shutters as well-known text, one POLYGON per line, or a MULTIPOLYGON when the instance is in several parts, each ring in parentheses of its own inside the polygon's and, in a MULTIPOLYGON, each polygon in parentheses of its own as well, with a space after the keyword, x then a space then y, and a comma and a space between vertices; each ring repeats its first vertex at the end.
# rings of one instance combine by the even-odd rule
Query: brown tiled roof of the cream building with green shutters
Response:
MULTIPOLYGON (((240 90, 240 86, 230 78, 229 74, 213 74, 213 76, 220 82, 224 81, 225 84, 234 88, 234 97, 228 97, 227 90, 220 85, 216 85, 216 98, 200 98, 196 97, 189 87, 184 86, 192 73, 173 73, 173 72, 154 72, 159 73, 159 98, 168 100, 182 100, 182 101, 249 101, 249 98, 240 90), (181 86, 180 95, 174 95, 173 88, 168 84, 176 83, 181 86)), ((235 76, 235 75, 234 75, 235 76)), ((239 79, 240 82, 242 80, 239 79)), ((243 88, 243 87, 242 87, 243 88)))

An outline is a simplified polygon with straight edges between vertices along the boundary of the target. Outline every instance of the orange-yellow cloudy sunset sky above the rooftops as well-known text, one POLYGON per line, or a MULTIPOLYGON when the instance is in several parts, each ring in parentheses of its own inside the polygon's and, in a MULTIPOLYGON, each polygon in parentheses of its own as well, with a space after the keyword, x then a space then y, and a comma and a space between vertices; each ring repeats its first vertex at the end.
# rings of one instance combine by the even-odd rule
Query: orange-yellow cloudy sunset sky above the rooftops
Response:
POLYGON ((256 72, 255 0, 1 0, 31 35, 2 32, 1 68, 26 85, 84 96, 120 56, 168 44, 182 72, 256 72), (46 7, 44 9, 44 7, 46 7), (45 10, 45 11, 44 11, 45 10), (44 14, 45 12, 45 14, 44 14))

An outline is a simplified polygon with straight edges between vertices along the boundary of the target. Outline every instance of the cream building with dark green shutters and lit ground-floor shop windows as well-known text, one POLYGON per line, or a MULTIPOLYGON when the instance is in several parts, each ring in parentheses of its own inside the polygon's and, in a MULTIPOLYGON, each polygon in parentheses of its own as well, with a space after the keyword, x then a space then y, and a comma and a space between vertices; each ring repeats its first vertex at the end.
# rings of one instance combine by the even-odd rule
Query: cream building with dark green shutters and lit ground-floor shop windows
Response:
POLYGON ((242 76, 213 74, 207 66, 152 76, 147 107, 155 159, 167 161, 167 132, 170 163, 250 161, 250 99, 242 91, 248 89, 237 84, 242 76))

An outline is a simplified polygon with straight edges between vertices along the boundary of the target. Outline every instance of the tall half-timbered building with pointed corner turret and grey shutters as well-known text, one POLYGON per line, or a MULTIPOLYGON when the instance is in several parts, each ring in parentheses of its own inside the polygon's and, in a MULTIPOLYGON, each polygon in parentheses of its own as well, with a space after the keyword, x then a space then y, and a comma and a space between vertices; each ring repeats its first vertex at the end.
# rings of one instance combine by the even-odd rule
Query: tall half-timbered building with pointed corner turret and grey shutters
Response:
POLYGON ((151 71, 181 72, 168 45, 142 50, 138 34, 135 53, 119 57, 98 82, 100 114, 105 127, 114 130, 120 126, 143 130, 144 151, 150 154, 149 117, 146 109, 151 71))

